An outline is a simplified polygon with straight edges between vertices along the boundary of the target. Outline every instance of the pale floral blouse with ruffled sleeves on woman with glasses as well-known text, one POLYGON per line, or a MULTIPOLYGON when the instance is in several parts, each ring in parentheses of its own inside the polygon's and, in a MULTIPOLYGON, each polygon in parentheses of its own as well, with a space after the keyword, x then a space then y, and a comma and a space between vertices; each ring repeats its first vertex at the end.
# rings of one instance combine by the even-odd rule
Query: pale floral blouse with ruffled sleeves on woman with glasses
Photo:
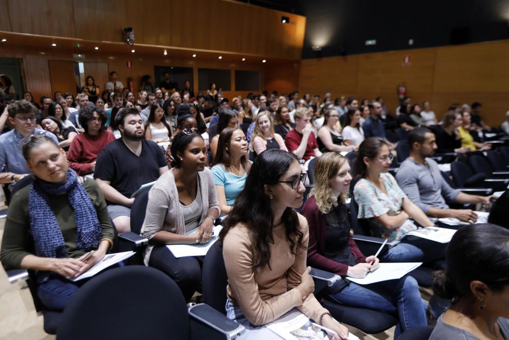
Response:
POLYGON ((372 219, 370 225, 376 229, 373 230, 373 236, 388 239, 389 242, 399 241, 405 233, 417 229, 417 226, 407 219, 400 227, 387 229, 374 219, 384 214, 397 215, 401 211, 403 199, 407 198, 391 174, 381 173, 380 178, 387 194, 365 178, 360 179, 355 185, 353 194, 359 205, 357 217, 359 219, 372 219))

